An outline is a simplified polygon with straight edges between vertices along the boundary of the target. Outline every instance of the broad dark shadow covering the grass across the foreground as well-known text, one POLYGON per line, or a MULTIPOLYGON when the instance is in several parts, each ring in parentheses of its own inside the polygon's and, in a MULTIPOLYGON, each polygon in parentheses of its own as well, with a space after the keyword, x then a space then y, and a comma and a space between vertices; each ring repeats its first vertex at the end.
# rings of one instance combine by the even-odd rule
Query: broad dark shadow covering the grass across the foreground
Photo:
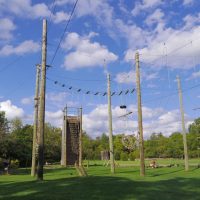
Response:
POLYGON ((193 199, 200 196, 199 180, 176 178, 133 181, 112 176, 73 177, 36 182, 0 182, 0 199, 6 200, 130 200, 193 199))

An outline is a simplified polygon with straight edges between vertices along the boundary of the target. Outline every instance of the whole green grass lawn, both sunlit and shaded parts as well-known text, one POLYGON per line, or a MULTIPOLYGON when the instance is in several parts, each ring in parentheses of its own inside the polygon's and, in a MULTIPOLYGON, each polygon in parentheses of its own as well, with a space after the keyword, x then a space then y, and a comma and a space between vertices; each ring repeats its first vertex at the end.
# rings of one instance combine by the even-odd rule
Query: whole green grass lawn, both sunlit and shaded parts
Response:
POLYGON ((30 177, 30 170, 19 169, 0 176, 0 199, 6 200, 176 200, 200 199, 200 169, 183 167, 146 169, 144 178, 138 167, 110 169, 91 166, 88 177, 78 177, 75 169, 51 166, 43 182, 30 177))

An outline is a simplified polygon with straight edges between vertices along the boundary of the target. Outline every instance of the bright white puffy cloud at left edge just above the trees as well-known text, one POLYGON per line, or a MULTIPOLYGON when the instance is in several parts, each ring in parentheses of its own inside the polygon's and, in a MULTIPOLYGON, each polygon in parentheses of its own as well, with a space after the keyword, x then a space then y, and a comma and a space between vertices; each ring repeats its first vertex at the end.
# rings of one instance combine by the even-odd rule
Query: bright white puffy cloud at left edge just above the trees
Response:
POLYGON ((24 110, 12 104, 10 100, 0 102, 0 111, 6 113, 6 117, 11 120, 16 117, 23 118, 24 110))

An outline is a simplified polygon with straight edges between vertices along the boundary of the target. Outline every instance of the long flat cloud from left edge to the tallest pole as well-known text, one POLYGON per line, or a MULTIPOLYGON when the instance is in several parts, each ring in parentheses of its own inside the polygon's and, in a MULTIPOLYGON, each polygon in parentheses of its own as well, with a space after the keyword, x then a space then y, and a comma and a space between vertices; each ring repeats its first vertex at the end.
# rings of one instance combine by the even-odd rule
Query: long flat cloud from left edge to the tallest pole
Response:
POLYGON ((40 45, 32 40, 26 40, 18 46, 6 45, 0 50, 1 56, 9 56, 12 54, 23 55, 26 53, 35 53, 40 50, 40 45))

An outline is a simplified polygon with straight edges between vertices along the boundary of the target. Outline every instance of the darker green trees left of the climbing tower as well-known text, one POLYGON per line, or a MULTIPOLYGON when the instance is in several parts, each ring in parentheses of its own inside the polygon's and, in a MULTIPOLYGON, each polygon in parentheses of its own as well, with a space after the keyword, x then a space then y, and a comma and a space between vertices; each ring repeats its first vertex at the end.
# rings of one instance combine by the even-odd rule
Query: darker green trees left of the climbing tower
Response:
MULTIPOLYGON (((45 151, 48 162, 57 162, 61 154, 61 129, 45 124, 45 151)), ((33 126, 19 118, 8 121, 0 112, 0 159, 17 160, 21 167, 31 165, 33 126)), ((0 167, 2 163, 0 162, 0 167)))

